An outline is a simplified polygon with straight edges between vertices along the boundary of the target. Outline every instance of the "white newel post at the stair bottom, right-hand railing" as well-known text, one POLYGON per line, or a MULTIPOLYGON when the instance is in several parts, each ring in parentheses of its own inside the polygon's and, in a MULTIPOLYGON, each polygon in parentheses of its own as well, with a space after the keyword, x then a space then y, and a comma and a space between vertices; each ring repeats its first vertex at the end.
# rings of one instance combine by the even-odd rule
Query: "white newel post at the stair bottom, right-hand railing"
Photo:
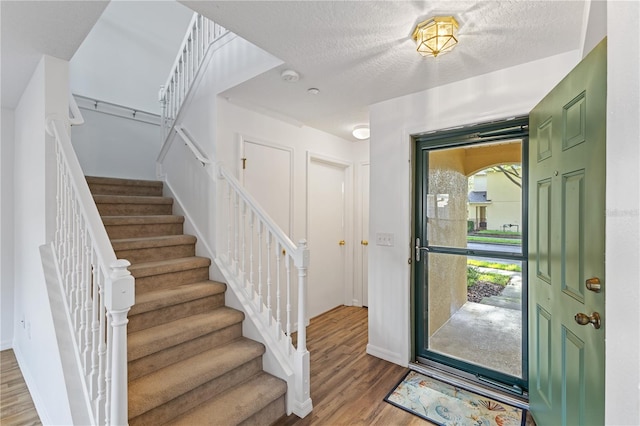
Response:
POLYGON ((298 344, 295 354, 296 402, 293 412, 300 418, 313 409, 311 403, 310 377, 311 367, 307 350, 307 269, 309 268, 309 249, 307 241, 298 242, 301 264, 298 265, 298 344))

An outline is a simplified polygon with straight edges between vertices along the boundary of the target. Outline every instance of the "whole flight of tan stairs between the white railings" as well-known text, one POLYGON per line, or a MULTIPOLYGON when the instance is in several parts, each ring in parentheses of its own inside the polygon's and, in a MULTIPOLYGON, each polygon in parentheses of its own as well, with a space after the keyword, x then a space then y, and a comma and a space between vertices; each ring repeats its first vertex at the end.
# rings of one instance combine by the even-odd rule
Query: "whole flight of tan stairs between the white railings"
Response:
POLYGON ((268 425, 285 415, 286 383, 262 371, 264 346, 242 336, 162 182, 87 177, 118 258, 131 262, 129 424, 268 425))

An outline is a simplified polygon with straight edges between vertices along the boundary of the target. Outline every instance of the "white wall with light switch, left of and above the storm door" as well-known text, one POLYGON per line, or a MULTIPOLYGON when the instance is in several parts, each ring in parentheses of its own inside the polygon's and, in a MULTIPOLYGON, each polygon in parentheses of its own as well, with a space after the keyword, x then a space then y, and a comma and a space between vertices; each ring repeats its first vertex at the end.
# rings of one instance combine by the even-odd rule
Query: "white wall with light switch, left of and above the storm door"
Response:
POLYGON ((392 233, 395 245, 369 245, 368 353, 400 365, 412 356, 410 135, 528 114, 578 59, 568 52, 371 107, 370 235, 392 233))

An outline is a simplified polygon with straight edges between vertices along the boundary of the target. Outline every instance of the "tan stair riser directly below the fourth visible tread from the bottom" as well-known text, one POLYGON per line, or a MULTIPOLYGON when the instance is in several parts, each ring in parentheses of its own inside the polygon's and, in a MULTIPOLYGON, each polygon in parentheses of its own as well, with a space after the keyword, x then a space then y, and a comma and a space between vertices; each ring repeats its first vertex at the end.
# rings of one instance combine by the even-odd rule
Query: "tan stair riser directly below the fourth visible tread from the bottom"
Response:
POLYGON ((129 317, 127 331, 133 333, 135 331, 144 330, 149 327, 166 324, 180 318, 186 318, 191 315, 203 314, 213 309, 224 306, 224 293, 216 294, 210 297, 203 297, 196 300, 190 300, 174 306, 168 306, 162 309, 145 312, 143 314, 132 315, 129 317))

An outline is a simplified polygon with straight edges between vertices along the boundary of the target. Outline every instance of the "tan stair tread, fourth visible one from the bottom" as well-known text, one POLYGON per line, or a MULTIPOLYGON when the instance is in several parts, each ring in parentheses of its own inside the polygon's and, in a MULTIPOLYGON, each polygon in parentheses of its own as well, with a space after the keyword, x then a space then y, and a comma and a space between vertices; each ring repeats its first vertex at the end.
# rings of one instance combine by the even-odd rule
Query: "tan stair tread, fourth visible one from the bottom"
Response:
POLYGON ((131 307, 129 315, 138 315, 167 306, 224 293, 226 289, 226 284, 216 281, 203 281, 150 291, 136 295, 136 303, 131 307))

